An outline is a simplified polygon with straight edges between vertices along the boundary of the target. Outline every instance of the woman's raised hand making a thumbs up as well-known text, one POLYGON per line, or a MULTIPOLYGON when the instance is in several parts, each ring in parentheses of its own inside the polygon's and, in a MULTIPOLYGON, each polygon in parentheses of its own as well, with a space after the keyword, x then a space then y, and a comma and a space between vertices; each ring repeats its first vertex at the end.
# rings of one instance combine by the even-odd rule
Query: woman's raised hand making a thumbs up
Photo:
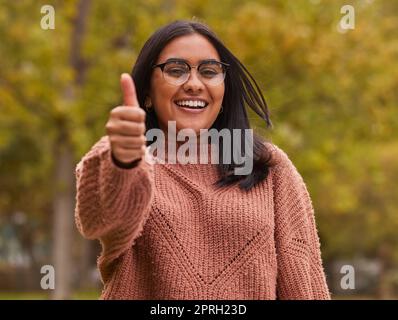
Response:
POLYGON ((145 111, 139 107, 134 82, 129 74, 122 74, 120 85, 123 105, 111 110, 105 129, 113 157, 128 164, 145 154, 145 111))

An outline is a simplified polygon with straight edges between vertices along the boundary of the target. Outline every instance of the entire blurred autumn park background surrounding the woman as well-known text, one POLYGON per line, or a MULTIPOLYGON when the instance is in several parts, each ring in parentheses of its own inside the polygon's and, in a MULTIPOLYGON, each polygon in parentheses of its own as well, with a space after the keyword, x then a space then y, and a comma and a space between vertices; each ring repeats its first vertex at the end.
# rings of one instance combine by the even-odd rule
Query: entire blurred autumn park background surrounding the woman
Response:
POLYGON ((307 183, 333 298, 398 297, 397 1, 0 0, 0 299, 98 298, 74 168, 121 102, 120 74, 176 19, 209 24, 257 79, 274 127, 251 123, 307 183), (43 265, 55 290, 40 287, 43 265))

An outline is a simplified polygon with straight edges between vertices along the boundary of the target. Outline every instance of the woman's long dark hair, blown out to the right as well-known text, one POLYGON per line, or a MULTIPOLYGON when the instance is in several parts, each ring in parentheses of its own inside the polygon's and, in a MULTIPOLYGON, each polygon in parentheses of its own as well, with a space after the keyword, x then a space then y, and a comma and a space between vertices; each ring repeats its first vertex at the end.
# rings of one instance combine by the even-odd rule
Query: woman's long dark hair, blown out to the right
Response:
MULTIPOLYGON (((193 33, 206 37, 216 48, 221 61, 230 65, 225 77, 223 112, 218 115, 212 128, 217 130, 226 128, 231 133, 232 129, 242 129, 240 130, 242 132, 240 139, 242 143, 241 150, 245 150, 243 129, 250 129, 245 104, 265 120, 267 127, 270 127, 271 121, 268 107, 260 88, 249 71, 205 24, 194 21, 175 21, 157 30, 147 40, 138 55, 132 71, 138 102, 140 106, 144 106, 145 98, 150 90, 151 66, 156 63, 163 48, 174 38, 193 33)), ((143 109, 145 110, 145 108, 143 109)), ((150 130, 152 128, 159 128, 156 114, 147 112, 146 129, 150 130)), ((222 145, 220 144, 220 157, 223 154, 222 145)), ((229 148, 229 150, 233 149, 229 148)), ((239 167, 239 165, 233 162, 232 155, 231 160, 231 164, 223 164, 222 160, 219 162, 220 179, 216 182, 217 186, 223 187, 238 183, 241 189, 250 190, 268 176, 269 167, 271 166, 271 153, 265 146, 264 140, 253 134, 253 170, 251 173, 248 175, 235 175, 234 169, 239 167)))

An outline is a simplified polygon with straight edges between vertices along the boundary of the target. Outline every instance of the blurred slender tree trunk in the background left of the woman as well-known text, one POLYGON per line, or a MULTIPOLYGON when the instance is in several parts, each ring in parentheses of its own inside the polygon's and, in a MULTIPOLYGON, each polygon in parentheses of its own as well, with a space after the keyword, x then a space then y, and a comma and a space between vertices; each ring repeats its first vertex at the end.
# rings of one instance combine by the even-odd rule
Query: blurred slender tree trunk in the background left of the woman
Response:
MULTIPOLYGON (((90 0, 77 3, 76 18, 71 33, 69 63, 74 69, 75 79, 65 89, 64 98, 73 103, 76 99, 74 88, 84 82, 85 64, 81 55, 82 41, 85 33, 85 21, 89 12, 90 0)), ((74 234, 75 180, 73 148, 68 133, 67 112, 60 116, 59 133, 55 146, 55 196, 54 196, 54 269, 55 290, 52 299, 70 299, 72 294, 72 277, 77 268, 72 263, 72 244, 74 234)))

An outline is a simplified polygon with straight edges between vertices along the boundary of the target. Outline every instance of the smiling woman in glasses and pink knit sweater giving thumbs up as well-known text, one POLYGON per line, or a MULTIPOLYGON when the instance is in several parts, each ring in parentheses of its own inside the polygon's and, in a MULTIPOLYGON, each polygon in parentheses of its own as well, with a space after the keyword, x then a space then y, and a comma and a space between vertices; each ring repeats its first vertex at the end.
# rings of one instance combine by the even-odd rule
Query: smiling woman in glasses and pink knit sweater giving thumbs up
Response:
POLYGON ((101 298, 329 299, 311 200, 281 149, 254 137, 246 175, 223 161, 235 140, 219 164, 148 152, 144 134, 170 123, 198 136, 250 129, 245 105, 270 125, 238 59, 207 26, 176 21, 145 43, 132 78, 76 169, 77 226, 103 248, 101 298))

